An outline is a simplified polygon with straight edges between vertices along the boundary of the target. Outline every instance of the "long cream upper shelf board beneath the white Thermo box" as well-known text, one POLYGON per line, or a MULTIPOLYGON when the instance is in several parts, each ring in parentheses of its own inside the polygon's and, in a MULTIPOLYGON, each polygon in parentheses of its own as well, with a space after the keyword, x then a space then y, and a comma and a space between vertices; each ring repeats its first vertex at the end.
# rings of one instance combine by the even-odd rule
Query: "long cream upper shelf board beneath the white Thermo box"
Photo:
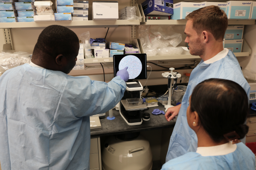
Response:
POLYGON ((0 28, 45 28, 51 25, 60 25, 70 28, 97 28, 117 27, 125 25, 140 25, 140 20, 89 20, 89 21, 47 21, 27 23, 1 23, 0 28))

